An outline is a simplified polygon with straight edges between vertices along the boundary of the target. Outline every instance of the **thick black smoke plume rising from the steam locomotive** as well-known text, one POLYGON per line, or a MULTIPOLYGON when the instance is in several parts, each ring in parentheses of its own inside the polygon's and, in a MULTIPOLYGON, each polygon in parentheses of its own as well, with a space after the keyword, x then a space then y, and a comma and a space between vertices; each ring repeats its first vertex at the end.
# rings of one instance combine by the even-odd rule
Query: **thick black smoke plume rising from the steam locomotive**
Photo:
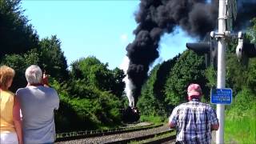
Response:
MULTIPOLYGON (((254 0, 238 0, 237 29, 255 17, 255 6, 254 0)), ((126 47, 126 55, 130 58, 127 74, 135 86, 136 106, 150 64, 159 56, 158 42, 162 34, 180 26, 190 36, 204 38, 218 26, 218 0, 141 0, 135 20, 136 36, 126 47)))

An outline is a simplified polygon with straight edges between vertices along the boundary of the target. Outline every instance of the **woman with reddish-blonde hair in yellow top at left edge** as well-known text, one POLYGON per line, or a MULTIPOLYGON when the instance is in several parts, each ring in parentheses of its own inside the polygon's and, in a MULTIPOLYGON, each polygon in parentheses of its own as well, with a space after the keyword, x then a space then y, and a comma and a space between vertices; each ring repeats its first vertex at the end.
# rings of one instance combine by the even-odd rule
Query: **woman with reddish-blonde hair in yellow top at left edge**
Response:
POLYGON ((22 144, 22 125, 19 104, 9 88, 13 82, 14 70, 0 66, 0 143, 22 144))

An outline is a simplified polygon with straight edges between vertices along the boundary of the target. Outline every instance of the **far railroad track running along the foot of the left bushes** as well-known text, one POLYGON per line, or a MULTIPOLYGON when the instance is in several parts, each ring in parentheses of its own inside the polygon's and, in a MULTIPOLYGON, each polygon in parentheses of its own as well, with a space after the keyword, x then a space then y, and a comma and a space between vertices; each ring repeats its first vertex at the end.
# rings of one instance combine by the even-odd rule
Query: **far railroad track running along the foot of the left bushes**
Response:
POLYGON ((70 141, 74 139, 80 139, 80 138, 92 138, 92 137, 98 137, 98 136, 104 136, 104 135, 110 135, 110 134, 122 134, 132 131, 138 131, 138 130, 147 130, 152 129, 155 127, 162 126, 163 124, 158 125, 149 125, 149 126, 135 126, 135 127, 125 127, 125 128, 119 128, 119 129, 109 129, 109 130, 86 130, 86 131, 75 131, 70 133, 62 133, 56 135, 56 141, 55 142, 64 142, 64 141, 70 141))

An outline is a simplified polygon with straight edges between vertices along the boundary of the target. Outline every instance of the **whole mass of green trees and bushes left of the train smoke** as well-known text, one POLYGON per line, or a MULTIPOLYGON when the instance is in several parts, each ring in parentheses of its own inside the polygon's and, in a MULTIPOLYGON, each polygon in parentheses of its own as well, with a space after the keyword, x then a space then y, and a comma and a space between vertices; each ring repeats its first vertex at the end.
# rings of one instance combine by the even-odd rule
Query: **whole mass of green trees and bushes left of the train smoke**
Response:
POLYGON ((121 123, 125 74, 91 56, 80 58, 68 69, 61 42, 56 35, 39 39, 22 14, 20 1, 0 1, 0 64, 14 68, 11 86, 26 86, 25 70, 35 64, 50 74, 50 86, 61 102, 55 114, 57 132, 92 130, 121 123))

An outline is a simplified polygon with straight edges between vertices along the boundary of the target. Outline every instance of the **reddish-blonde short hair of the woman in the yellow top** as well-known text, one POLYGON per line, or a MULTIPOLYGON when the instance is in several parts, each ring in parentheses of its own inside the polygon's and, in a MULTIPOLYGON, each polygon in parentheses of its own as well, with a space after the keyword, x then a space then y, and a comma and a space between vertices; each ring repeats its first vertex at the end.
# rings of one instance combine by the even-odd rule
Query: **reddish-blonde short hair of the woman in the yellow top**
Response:
POLYGON ((7 88, 10 79, 14 78, 15 71, 9 66, 0 66, 0 87, 7 88))

